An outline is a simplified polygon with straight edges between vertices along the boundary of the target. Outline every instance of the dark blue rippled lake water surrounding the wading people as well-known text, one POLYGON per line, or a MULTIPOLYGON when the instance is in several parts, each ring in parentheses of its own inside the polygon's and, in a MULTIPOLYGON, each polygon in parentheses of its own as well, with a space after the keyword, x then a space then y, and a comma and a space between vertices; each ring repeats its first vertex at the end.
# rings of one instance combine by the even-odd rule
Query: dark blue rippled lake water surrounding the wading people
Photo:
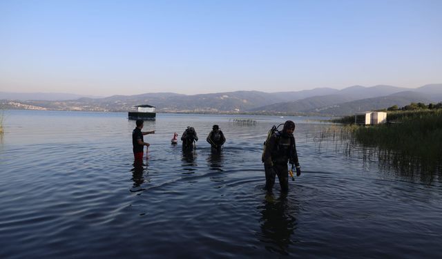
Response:
POLYGON ((442 184, 345 155, 303 117, 158 114, 134 168, 126 113, 5 111, 0 258, 437 258, 442 184), (302 175, 266 196, 262 143, 296 122, 302 175), (219 124, 220 155, 205 138, 219 124), (194 126, 191 153, 170 144, 194 126))

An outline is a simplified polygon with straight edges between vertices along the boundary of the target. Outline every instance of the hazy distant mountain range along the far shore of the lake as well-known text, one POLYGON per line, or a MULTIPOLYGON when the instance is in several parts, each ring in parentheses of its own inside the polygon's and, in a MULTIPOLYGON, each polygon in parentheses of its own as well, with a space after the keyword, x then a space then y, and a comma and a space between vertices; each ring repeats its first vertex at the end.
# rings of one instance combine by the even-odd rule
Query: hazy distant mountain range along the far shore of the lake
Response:
MULTIPOLYGON (((50 95, 50 94, 48 94, 50 95)), ((64 95, 64 94, 62 94, 64 95)), ((442 84, 420 88, 396 86, 350 86, 342 90, 315 88, 292 92, 264 93, 236 91, 202 95, 177 93, 146 93, 113 95, 111 97, 79 97, 47 100, 36 98, 6 98, 0 93, 3 109, 48 109, 61 111, 130 111, 138 104, 151 104, 159 112, 186 113, 260 113, 291 115, 348 115, 361 111, 405 106, 410 102, 442 102, 442 84)), ((26 97, 26 95, 23 95, 26 97)), ((61 95, 60 95, 61 96, 61 95)), ((46 96, 49 97, 49 96, 46 96)), ((52 95, 56 97, 56 95, 52 95)), ((64 96, 66 97, 66 95, 64 96)))

